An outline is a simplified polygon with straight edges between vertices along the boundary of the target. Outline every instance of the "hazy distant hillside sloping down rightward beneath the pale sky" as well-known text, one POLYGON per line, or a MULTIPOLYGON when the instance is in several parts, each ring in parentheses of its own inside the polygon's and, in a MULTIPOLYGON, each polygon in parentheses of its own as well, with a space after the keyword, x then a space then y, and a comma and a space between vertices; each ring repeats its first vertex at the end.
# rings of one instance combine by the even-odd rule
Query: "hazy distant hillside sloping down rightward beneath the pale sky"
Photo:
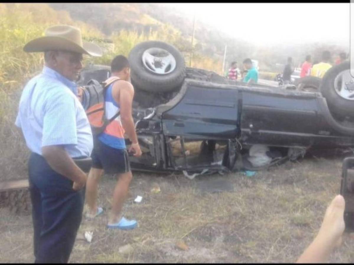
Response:
MULTIPOLYGON (((222 72, 222 60, 224 48, 227 45, 226 66, 236 60, 242 62, 251 57, 259 61, 261 71, 278 71, 276 64, 284 64, 286 58, 291 56, 295 65, 301 65, 307 54, 312 54, 314 61, 320 60, 321 52, 328 49, 335 56, 340 52, 349 52, 349 45, 340 46, 327 43, 304 42, 302 44, 279 43, 264 46, 262 40, 259 43, 249 43, 232 37, 196 20, 195 40, 192 47, 193 17, 189 17, 176 10, 170 4, 154 3, 51 3, 51 7, 57 10, 68 11, 72 18, 82 20, 87 24, 97 26, 106 36, 116 34, 121 30, 134 31, 138 34, 149 34, 150 31, 161 31, 168 28, 178 32, 178 38, 174 38, 175 45, 186 56, 193 50, 194 67, 206 68, 216 72, 222 72), (212 64, 200 65, 201 58, 213 59, 212 64), (195 64, 195 65, 194 65, 195 64)), ((238 11, 241 12, 241 11, 238 11)), ((237 12, 235 13, 237 17, 237 12)), ((245 26, 242 21, 235 21, 235 29, 245 26)), ((269 31, 274 28, 264 29, 269 31)), ((189 59, 187 59, 189 65, 189 59)))

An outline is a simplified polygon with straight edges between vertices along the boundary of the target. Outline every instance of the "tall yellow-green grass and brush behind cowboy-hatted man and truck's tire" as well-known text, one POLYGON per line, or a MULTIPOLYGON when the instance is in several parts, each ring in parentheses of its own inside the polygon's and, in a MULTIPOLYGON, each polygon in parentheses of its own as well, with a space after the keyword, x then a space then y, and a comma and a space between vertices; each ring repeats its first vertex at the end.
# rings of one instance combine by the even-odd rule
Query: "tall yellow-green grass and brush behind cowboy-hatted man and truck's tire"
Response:
MULTIPOLYGON (((124 13, 127 12, 124 11, 124 13)), ((86 17, 90 16, 90 13, 86 13, 86 17)), ((142 14, 137 20, 140 24, 155 23, 158 25, 149 28, 148 31, 127 27, 107 35, 99 24, 95 25, 91 22, 73 19, 68 11, 55 10, 48 4, 0 4, 0 34, 2 36, 0 38, 0 134, 2 136, 0 179, 21 178, 26 175, 28 151, 14 122, 22 88, 30 78, 41 71, 43 56, 41 53, 25 53, 23 46, 33 38, 41 36, 48 26, 56 24, 78 26, 85 40, 96 42, 101 46, 105 38, 113 41, 113 49, 106 49, 101 58, 86 56, 84 64, 109 64, 114 55, 127 56, 137 43, 147 40, 168 42, 185 55, 190 52, 189 40, 182 36, 181 31, 171 25, 155 21, 148 15, 142 14)), ((186 61, 188 61, 188 56, 186 56, 186 61)), ((198 53, 194 54, 193 66, 221 71, 220 60, 198 53)))

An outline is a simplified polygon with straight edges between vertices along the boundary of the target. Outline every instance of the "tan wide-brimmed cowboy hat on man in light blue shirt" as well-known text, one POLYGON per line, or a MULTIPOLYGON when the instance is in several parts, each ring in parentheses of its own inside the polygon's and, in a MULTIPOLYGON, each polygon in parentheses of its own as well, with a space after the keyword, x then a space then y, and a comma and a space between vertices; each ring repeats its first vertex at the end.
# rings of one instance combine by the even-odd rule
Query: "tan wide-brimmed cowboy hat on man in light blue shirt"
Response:
POLYGON ((28 42, 23 50, 28 53, 65 50, 91 56, 102 56, 102 50, 96 44, 82 41, 81 31, 76 27, 68 25, 51 26, 45 30, 44 35, 44 37, 28 42))

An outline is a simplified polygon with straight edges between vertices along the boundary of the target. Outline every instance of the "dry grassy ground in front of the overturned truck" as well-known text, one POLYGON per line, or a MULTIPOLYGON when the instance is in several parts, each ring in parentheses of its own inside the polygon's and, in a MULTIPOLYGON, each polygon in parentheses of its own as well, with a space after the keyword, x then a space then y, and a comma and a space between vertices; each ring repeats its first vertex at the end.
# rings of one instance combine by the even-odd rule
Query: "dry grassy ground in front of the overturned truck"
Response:
MULTIPOLYGON (((310 155, 252 177, 232 173, 189 180, 135 173, 124 207, 124 215, 138 221, 131 231, 105 228, 115 184, 105 176, 99 190, 105 212, 93 220, 83 218, 69 262, 295 262, 339 192, 342 159, 310 155), (153 193, 157 185, 161 191, 153 193), (134 202, 137 195, 141 203, 134 202), (85 231, 93 231, 91 243, 84 240, 85 231), (122 251, 123 246, 128 250, 122 251)), ((31 216, 7 209, 0 209, 0 216, 0 262, 33 262, 31 216)), ((353 262, 353 249, 354 241, 344 236, 330 262, 353 262)))

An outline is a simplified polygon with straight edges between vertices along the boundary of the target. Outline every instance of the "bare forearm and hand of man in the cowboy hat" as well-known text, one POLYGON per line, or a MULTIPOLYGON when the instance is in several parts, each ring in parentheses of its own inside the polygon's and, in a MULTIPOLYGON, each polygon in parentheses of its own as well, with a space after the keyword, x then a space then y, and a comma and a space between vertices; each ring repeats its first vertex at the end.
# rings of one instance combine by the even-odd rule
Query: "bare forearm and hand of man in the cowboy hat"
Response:
POLYGON ((42 155, 54 171, 74 181, 73 188, 75 190, 85 185, 86 174, 75 164, 64 146, 44 146, 42 147, 42 155))

